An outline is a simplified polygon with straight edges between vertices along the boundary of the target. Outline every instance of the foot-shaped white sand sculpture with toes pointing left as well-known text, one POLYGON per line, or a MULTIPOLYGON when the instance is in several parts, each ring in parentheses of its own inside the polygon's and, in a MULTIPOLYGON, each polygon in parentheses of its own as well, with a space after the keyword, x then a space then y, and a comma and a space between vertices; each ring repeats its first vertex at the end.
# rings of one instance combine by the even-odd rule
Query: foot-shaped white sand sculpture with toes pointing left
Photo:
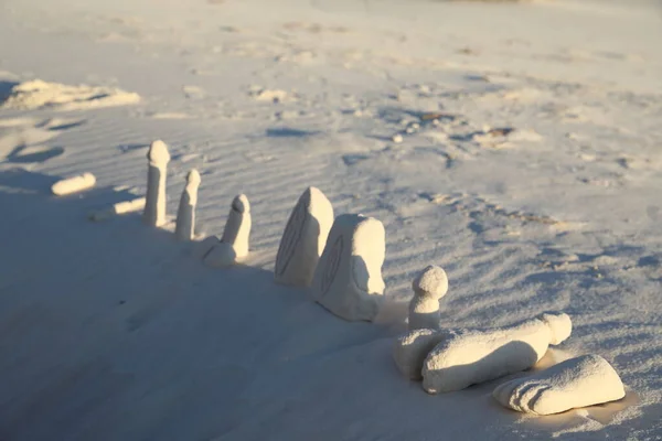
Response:
POLYGON ((591 354, 506 381, 498 386, 492 396, 503 406, 521 412, 551 415, 619 400, 626 390, 613 367, 591 354))

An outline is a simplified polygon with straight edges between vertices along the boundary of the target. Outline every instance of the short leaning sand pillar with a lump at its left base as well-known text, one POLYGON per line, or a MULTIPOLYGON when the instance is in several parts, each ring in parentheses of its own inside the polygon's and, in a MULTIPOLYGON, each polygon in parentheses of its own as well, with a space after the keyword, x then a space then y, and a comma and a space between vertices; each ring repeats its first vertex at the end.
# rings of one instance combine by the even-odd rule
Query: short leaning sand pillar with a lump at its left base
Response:
POLYGON ((248 257, 249 236, 250 204, 246 195, 241 194, 232 202, 221 241, 206 254, 204 262, 211 267, 243 262, 248 257))

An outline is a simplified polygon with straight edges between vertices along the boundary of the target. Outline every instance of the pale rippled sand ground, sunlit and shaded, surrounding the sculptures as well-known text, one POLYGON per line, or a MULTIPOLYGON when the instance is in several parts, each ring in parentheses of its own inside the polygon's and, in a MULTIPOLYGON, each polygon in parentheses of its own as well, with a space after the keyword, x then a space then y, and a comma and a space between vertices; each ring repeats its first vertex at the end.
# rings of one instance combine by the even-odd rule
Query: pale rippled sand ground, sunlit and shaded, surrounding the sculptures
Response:
POLYGON ((1 97, 41 78, 141 99, 0 108, 0 439, 659 437, 662 15, 648 4, 2 1, 1 97), (485 140, 484 126, 515 131, 485 140), (153 139, 172 154, 170 218, 193 168, 201 235, 250 196, 245 266, 205 267, 169 223, 86 219, 145 195, 153 139), (85 172, 95 191, 50 195, 85 172), (274 282, 311 185, 337 215, 384 224, 375 323, 274 282), (406 380, 391 353, 430 263, 451 282, 444 326, 566 311, 573 336, 547 361, 598 354, 626 398, 530 417, 491 398, 501 380, 437 396, 406 380))

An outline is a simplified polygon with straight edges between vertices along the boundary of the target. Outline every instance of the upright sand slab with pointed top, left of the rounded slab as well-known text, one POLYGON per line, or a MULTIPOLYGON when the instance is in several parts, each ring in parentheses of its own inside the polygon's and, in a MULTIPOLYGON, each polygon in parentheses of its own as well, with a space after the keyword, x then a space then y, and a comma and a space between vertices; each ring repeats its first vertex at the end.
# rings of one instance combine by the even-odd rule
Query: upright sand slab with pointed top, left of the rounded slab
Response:
POLYGON ((308 187, 285 227, 274 278, 279 283, 309 287, 333 224, 333 206, 319 189, 308 187))

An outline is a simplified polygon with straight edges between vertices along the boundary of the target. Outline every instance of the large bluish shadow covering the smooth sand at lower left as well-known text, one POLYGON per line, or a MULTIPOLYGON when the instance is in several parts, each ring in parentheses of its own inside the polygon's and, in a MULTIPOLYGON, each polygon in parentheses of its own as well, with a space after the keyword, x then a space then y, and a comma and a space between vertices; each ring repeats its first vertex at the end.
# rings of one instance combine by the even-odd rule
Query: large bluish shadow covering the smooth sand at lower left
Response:
POLYGON ((94 224, 135 195, 55 197, 55 181, 0 171, 0 440, 489 438, 520 418, 490 397, 508 378, 428 396, 394 367, 387 326, 263 269, 206 268, 137 214, 94 224))

